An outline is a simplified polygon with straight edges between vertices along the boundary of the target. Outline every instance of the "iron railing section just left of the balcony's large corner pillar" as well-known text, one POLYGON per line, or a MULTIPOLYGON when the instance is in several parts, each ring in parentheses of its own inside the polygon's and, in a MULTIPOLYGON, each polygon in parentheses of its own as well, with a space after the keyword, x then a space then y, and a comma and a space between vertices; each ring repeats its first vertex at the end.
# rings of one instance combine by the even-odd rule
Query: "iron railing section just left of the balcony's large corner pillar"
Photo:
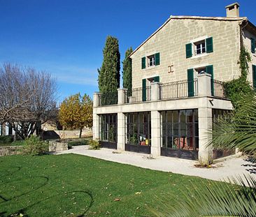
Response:
POLYGON ((159 85, 160 99, 167 98, 185 98, 188 96, 198 96, 198 80, 195 78, 192 82, 182 80, 178 82, 169 82, 159 85), (190 86, 190 90, 189 90, 190 86), (190 94, 189 94, 190 91, 190 94))

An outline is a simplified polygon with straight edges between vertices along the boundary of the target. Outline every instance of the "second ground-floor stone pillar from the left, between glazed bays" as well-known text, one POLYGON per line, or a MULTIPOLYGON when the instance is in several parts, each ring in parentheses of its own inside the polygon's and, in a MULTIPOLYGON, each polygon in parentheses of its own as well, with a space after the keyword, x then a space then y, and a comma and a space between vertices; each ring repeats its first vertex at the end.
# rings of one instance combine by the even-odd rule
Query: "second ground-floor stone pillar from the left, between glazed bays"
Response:
POLYGON ((118 151, 125 151, 125 114, 118 113, 118 151))

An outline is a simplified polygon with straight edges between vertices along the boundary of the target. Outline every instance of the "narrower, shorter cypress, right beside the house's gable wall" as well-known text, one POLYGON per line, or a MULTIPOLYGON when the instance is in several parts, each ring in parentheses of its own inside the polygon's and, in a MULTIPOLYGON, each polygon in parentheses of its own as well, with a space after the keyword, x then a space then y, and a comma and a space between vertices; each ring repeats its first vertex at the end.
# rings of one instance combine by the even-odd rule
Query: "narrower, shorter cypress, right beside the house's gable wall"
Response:
POLYGON ((128 96, 131 96, 131 58, 129 55, 132 53, 132 48, 128 48, 125 52, 125 59, 122 61, 122 87, 127 88, 128 96))

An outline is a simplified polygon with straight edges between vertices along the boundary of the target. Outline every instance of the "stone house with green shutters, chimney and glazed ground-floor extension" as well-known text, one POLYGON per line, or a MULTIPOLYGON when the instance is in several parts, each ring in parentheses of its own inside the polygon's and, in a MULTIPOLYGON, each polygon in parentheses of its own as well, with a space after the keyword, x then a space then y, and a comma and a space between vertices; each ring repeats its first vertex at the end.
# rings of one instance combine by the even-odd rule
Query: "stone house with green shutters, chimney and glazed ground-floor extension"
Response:
MULTIPOLYGON (((230 153, 207 147, 214 121, 232 110, 222 82, 241 75, 241 46, 250 52, 248 81, 256 87, 256 27, 239 17, 171 16, 130 55, 132 96, 118 89, 106 105, 94 93, 93 135, 103 147, 152 156, 199 159, 230 153)), ((106 98, 105 98, 106 99, 106 98)))

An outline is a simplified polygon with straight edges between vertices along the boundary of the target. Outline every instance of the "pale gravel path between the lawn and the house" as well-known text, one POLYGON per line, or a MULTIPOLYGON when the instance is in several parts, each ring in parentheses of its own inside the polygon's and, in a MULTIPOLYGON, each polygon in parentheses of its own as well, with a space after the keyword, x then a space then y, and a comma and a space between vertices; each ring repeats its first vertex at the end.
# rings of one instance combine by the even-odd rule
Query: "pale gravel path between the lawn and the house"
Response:
MULTIPOLYGON (((88 146, 75 146, 67 151, 60 151, 56 154, 80 154, 110 160, 118 163, 125 163, 137 167, 148 168, 151 170, 160 170, 178 174, 197 176, 217 181, 227 181, 232 177, 243 177, 243 174, 250 174, 246 169, 252 169, 252 166, 243 166, 252 164, 245 161, 241 155, 229 156, 222 160, 216 160, 211 168, 199 168, 194 165, 198 164, 195 160, 185 160, 179 158, 158 157, 150 158, 148 154, 138 154, 124 151, 117 153, 114 149, 89 150, 88 146)), ((256 174, 252 174, 256 178, 256 174)))

